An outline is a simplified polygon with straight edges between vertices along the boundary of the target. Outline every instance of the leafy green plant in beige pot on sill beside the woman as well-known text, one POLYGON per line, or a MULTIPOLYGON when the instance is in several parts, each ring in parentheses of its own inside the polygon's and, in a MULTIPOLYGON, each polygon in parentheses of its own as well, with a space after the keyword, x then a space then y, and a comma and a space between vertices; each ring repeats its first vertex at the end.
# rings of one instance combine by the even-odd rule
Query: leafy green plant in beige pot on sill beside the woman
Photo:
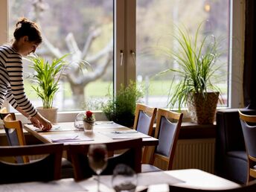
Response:
POLYGON ((64 60, 67 56, 68 54, 65 54, 60 59, 52 60, 51 63, 37 55, 28 58, 32 63, 29 67, 35 72, 31 77, 34 83, 32 88, 42 100, 42 107, 36 109, 51 122, 57 122, 57 108, 53 107, 53 102, 56 93, 60 89, 60 77, 68 66, 68 62, 64 60))

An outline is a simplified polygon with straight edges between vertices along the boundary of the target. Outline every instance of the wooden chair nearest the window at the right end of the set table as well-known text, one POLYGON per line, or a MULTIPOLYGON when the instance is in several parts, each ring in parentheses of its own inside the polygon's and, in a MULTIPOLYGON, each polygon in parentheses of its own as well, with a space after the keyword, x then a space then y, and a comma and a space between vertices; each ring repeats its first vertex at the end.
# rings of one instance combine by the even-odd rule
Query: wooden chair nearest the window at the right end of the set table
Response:
MULTIPOLYGON (((153 136, 153 124, 156 118, 156 112, 157 109, 154 107, 137 103, 135 109, 135 121, 133 124, 133 129, 146 135, 153 136)), ((142 163, 147 162, 147 156, 149 154, 149 151, 149 147, 144 147, 142 163)))

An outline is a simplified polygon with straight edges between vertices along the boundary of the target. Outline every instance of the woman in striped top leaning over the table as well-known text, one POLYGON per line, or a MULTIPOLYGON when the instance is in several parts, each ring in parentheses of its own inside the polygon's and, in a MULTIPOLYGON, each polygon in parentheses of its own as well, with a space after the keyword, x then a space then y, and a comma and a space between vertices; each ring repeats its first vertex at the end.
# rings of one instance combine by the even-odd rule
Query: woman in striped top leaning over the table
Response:
POLYGON ((0 106, 4 98, 42 130, 51 129, 51 122, 36 111, 24 91, 22 56, 36 51, 42 36, 36 23, 22 18, 16 24, 11 45, 0 46, 0 106))

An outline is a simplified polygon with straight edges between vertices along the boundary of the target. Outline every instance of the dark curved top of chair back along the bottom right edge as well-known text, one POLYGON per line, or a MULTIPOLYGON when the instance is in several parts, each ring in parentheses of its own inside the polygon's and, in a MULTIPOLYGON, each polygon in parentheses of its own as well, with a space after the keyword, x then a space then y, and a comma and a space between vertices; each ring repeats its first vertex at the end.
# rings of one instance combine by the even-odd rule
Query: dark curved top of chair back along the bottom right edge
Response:
POLYGON ((172 191, 172 192, 255 192, 256 182, 253 181, 253 182, 250 182, 248 185, 241 185, 240 188, 220 189, 220 190, 182 188, 178 186, 169 185, 169 191, 172 191))

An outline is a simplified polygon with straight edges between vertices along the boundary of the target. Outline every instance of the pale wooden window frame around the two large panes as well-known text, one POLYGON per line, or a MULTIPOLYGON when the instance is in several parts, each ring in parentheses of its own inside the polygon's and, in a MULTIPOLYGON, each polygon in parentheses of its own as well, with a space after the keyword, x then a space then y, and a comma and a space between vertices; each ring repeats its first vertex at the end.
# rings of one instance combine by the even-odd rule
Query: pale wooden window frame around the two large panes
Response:
MULTIPOLYGON (((139 1, 139 0, 138 0, 139 1)), ((230 58, 228 74, 228 108, 243 107, 243 58, 244 58, 244 35, 245 35, 245 4, 246 0, 231 1, 231 38, 230 58), (236 13, 236 14, 233 14, 236 13), (237 40, 239 39, 239 40, 237 40), (239 94, 237 94, 239 93, 239 94)), ((135 15, 136 0, 113 0, 114 3, 114 86, 115 92, 120 88, 121 83, 125 86, 129 80, 135 80, 135 60, 132 52, 135 53, 135 15), (118 28, 117 28, 118 26, 118 28), (129 35, 128 35, 129 34, 129 35), (121 65, 121 51, 124 60, 121 65)), ((8 31, 8 0, 0 1, 0 43, 7 42, 8 31)), ((9 107, 7 102, 4 106, 9 107)), ((58 112, 58 121, 74 121, 79 112, 58 112)), ((102 112, 95 112, 96 118, 105 120, 102 112)), ((26 118, 17 114, 17 118, 26 122, 26 118)))

